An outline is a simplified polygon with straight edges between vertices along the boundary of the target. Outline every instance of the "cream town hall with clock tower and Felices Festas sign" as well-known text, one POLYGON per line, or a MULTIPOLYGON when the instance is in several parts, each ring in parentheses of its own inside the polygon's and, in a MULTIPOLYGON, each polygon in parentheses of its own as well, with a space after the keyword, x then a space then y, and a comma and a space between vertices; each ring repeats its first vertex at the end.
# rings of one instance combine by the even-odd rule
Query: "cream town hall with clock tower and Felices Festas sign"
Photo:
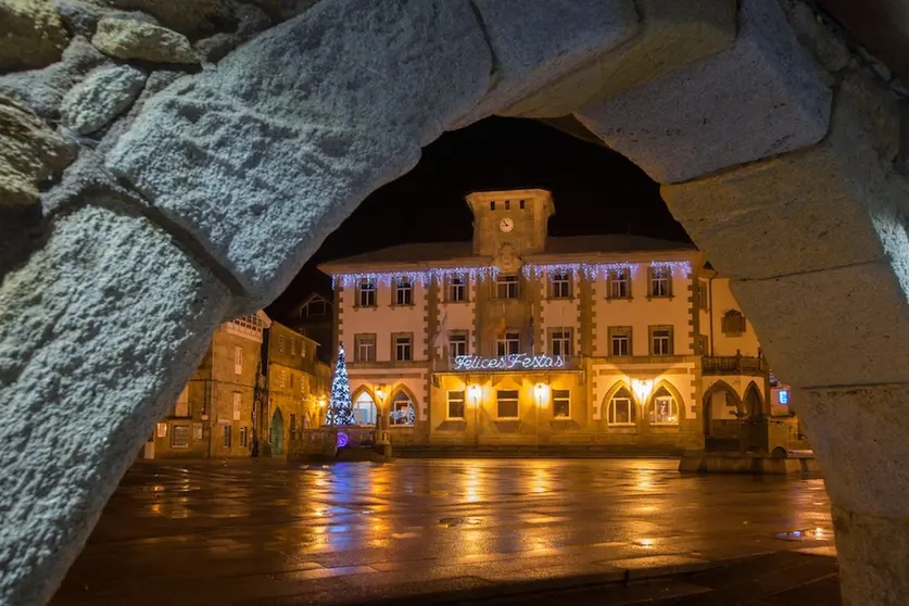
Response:
POLYGON ((395 444, 681 450, 790 418, 729 280, 697 250, 548 237, 545 190, 467 202, 472 242, 320 266, 358 425, 384 419, 395 444))

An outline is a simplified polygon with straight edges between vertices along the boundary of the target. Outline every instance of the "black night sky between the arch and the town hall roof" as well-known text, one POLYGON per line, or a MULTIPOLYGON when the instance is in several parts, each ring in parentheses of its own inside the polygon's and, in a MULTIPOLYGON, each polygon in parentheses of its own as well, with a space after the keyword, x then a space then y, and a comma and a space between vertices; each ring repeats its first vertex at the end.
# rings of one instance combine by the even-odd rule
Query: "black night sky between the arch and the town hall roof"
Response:
POLYGON ((657 184, 623 156, 539 122, 492 117, 445 134, 416 168, 369 195, 267 312, 280 319, 313 290, 330 294, 318 263, 405 242, 469 241, 471 191, 534 187, 553 192, 552 236, 690 241, 657 184))

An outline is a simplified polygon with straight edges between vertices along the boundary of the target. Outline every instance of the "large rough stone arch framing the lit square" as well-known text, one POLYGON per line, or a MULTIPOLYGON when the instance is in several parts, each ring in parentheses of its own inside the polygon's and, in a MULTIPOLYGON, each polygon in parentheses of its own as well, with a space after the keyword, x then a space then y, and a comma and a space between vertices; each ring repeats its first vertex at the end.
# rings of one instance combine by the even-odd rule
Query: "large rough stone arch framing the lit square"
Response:
POLYGON ((0 287, 0 603, 49 599, 218 323, 491 113, 573 113, 664 184, 800 389, 845 602, 909 594, 899 114, 808 4, 323 0, 160 79, 79 140, 0 287))

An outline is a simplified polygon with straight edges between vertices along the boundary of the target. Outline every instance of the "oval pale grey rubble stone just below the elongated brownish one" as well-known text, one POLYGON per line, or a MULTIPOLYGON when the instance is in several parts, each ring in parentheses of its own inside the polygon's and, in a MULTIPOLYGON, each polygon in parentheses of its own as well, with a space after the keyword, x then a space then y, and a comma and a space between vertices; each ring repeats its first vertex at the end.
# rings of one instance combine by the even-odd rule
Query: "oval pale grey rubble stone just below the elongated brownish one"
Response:
POLYGON ((89 135, 129 109, 142 91, 146 73, 129 65, 101 70, 63 98, 63 124, 79 135, 89 135))

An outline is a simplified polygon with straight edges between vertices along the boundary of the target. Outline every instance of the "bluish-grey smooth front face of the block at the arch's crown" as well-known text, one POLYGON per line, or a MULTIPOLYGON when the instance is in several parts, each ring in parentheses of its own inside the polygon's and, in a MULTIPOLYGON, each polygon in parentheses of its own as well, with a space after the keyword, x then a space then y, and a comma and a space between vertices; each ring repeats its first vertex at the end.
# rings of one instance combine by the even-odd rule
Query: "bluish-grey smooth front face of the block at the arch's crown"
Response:
POLYGON ((476 0, 474 4, 495 59, 494 85, 476 109, 455 123, 456 128, 512 105, 637 31, 632 0, 476 0))

